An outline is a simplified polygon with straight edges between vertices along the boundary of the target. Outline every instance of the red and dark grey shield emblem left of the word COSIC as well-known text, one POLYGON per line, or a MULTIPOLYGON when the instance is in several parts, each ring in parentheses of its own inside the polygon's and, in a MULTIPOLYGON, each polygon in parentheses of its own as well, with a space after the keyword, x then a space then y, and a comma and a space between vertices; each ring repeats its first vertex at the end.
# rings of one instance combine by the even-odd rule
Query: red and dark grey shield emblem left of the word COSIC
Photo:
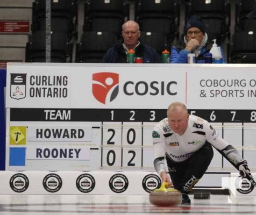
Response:
POLYGON ((93 95, 102 104, 112 102, 118 95, 119 74, 95 73, 93 74, 93 95))

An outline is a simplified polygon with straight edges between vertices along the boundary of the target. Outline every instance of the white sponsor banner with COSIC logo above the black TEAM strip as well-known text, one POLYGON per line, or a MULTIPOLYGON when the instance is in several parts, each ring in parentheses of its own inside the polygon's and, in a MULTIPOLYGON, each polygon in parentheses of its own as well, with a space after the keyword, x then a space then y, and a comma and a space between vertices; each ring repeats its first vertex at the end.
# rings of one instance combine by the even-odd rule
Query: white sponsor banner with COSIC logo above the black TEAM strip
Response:
POLYGON ((253 109, 255 67, 8 63, 6 107, 253 109))

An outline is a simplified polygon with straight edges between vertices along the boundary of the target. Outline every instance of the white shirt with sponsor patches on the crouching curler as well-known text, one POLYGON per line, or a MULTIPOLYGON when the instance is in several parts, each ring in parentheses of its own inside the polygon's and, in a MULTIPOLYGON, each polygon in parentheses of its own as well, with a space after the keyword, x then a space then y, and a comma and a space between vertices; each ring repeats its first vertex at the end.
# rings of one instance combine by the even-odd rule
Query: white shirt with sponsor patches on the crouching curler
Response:
POLYGON ((154 160, 167 156, 174 162, 189 159, 205 144, 205 141, 219 150, 229 145, 207 120, 194 115, 189 116, 187 130, 182 135, 170 129, 167 118, 162 119, 154 126, 152 138, 154 160))

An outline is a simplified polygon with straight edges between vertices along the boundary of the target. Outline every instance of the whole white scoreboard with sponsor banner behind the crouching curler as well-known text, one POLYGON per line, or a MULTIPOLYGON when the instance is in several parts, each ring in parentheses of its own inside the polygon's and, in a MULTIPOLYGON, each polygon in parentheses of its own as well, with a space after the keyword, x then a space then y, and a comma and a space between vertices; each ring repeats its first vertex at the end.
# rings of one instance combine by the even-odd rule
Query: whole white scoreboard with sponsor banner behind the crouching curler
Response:
MULTIPOLYGON (((187 105, 256 167, 254 64, 9 63, 6 170, 152 170, 152 130, 187 105)), ((215 150, 210 170, 232 168, 215 150)))

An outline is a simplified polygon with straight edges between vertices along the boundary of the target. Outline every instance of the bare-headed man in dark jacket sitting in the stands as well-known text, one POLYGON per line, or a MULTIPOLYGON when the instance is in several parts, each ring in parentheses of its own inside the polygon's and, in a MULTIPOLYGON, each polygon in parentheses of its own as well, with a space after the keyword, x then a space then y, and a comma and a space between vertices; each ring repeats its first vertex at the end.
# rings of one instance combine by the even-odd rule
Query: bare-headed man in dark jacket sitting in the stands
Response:
POLYGON ((123 39, 113 45, 104 55, 103 63, 126 63, 127 52, 133 49, 143 63, 159 63, 160 56, 154 48, 139 41, 139 25, 133 20, 126 21, 122 28, 123 39))

